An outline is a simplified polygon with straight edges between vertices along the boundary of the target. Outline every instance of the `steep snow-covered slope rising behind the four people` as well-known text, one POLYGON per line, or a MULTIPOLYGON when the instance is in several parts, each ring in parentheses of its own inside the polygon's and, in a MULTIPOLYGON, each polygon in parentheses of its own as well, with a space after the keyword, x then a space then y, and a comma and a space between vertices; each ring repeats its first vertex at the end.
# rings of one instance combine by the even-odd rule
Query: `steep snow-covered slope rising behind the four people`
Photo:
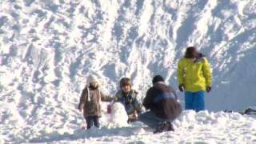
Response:
POLYGON ((177 87, 186 46, 197 46, 212 64, 207 110, 255 105, 254 0, 2 0, 0 139, 30 142, 78 129, 76 107, 89 74, 106 94, 123 76, 141 98, 154 74, 177 87))

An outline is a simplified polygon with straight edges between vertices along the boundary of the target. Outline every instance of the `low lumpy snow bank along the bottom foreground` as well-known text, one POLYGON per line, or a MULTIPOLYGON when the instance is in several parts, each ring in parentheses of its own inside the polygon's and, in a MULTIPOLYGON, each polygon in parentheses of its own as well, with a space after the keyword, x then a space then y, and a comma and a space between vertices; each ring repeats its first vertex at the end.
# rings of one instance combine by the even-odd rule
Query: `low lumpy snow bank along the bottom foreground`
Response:
POLYGON ((61 143, 254 143, 256 119, 238 113, 184 111, 174 121, 175 132, 152 134, 139 122, 122 128, 76 130, 38 142, 61 143), (140 127, 138 127, 140 126, 140 127), (70 139, 69 139, 70 138, 70 139))

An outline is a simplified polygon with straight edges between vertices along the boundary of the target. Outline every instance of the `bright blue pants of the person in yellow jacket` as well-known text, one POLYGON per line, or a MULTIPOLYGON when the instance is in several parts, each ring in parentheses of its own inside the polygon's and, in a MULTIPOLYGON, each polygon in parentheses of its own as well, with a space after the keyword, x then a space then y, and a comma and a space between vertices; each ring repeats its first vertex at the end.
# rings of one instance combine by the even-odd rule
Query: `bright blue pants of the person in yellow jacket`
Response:
POLYGON ((205 110, 205 91, 200 90, 197 92, 185 92, 185 109, 195 110, 196 112, 200 110, 205 110))

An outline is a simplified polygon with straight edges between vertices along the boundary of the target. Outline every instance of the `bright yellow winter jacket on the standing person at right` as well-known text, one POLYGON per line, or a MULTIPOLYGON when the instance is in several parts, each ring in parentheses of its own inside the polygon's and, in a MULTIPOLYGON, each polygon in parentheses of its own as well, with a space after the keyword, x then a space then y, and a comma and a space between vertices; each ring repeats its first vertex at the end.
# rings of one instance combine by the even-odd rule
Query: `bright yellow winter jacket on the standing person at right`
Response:
POLYGON ((178 62, 178 83, 183 84, 186 91, 206 90, 206 86, 211 86, 211 82, 210 64, 206 58, 198 62, 182 58, 178 62))

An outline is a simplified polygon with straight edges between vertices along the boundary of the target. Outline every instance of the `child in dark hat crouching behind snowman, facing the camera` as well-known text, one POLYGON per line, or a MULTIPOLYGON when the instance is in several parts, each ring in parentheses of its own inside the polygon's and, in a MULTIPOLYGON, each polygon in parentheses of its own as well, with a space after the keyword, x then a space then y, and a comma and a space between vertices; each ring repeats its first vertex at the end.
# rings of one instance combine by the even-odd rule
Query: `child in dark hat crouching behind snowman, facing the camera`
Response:
POLYGON ((120 90, 115 94, 115 102, 121 102, 126 109, 128 122, 138 120, 138 115, 142 113, 142 103, 138 101, 138 92, 132 89, 130 78, 122 78, 120 90))

